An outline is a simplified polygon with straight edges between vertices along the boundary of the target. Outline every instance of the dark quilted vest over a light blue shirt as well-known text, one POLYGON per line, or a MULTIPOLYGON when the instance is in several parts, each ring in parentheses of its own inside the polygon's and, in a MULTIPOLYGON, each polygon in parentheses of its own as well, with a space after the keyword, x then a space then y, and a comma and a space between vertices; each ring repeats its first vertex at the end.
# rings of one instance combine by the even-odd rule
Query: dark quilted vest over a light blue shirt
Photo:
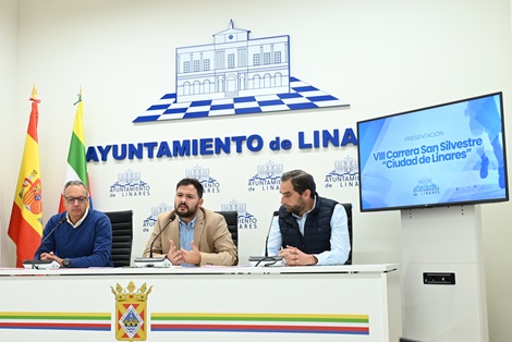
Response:
POLYGON ((282 235, 282 246, 297 247, 306 254, 319 254, 331 249, 331 217, 336 200, 316 196, 315 208, 307 215, 304 225, 304 236, 298 230, 296 218, 287 211, 284 206, 279 208, 279 229, 282 235))

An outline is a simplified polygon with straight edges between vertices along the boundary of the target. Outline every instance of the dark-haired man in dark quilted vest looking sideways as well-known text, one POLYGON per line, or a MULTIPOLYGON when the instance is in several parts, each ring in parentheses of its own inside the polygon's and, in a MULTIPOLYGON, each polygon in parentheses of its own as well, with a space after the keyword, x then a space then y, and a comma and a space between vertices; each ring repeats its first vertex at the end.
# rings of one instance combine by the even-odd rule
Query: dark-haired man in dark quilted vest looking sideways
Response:
POLYGON ((343 206, 318 196, 315 180, 302 170, 282 174, 280 193, 268 255, 279 254, 287 266, 343 265, 351 248, 343 206))

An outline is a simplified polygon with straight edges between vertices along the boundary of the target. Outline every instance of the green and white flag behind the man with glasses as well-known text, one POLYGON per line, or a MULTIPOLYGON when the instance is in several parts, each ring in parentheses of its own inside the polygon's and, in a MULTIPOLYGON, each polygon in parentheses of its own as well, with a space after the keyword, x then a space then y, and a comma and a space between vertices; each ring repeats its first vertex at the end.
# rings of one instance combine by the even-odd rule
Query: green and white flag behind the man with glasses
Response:
MULTIPOLYGON (((68 154, 68 171, 65 180, 62 185, 69 181, 81 180, 89 190, 89 207, 93 208, 93 199, 90 196, 89 175, 87 172, 87 161, 85 159, 85 138, 84 138, 84 103, 82 102, 82 89, 78 94, 78 101, 75 103, 76 115, 73 125, 73 133, 71 134, 70 151, 68 154)), ((64 198, 61 194, 59 212, 65 211, 64 198)))

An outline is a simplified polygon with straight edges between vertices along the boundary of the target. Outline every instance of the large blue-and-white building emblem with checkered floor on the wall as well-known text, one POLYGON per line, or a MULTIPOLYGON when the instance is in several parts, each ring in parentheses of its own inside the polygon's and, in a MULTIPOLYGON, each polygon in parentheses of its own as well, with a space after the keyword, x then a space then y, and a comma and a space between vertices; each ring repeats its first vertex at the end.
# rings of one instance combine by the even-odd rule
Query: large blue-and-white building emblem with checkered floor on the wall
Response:
POLYGON ((175 80, 175 91, 133 122, 349 106, 291 75, 289 35, 251 39, 249 33, 230 21, 209 44, 178 47, 169 63, 175 76, 164 75, 175 80))

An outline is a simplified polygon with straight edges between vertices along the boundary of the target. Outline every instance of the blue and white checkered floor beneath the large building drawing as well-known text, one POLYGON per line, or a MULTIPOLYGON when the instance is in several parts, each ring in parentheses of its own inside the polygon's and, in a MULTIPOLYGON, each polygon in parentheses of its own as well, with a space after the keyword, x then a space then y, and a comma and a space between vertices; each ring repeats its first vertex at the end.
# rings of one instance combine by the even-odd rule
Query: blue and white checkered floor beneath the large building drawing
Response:
POLYGON ((325 107, 345 107, 349 103, 326 94, 298 78, 290 77, 290 93, 235 97, 230 99, 176 102, 176 94, 166 94, 133 122, 151 122, 208 118, 219 115, 240 115, 272 111, 314 109, 325 107))

